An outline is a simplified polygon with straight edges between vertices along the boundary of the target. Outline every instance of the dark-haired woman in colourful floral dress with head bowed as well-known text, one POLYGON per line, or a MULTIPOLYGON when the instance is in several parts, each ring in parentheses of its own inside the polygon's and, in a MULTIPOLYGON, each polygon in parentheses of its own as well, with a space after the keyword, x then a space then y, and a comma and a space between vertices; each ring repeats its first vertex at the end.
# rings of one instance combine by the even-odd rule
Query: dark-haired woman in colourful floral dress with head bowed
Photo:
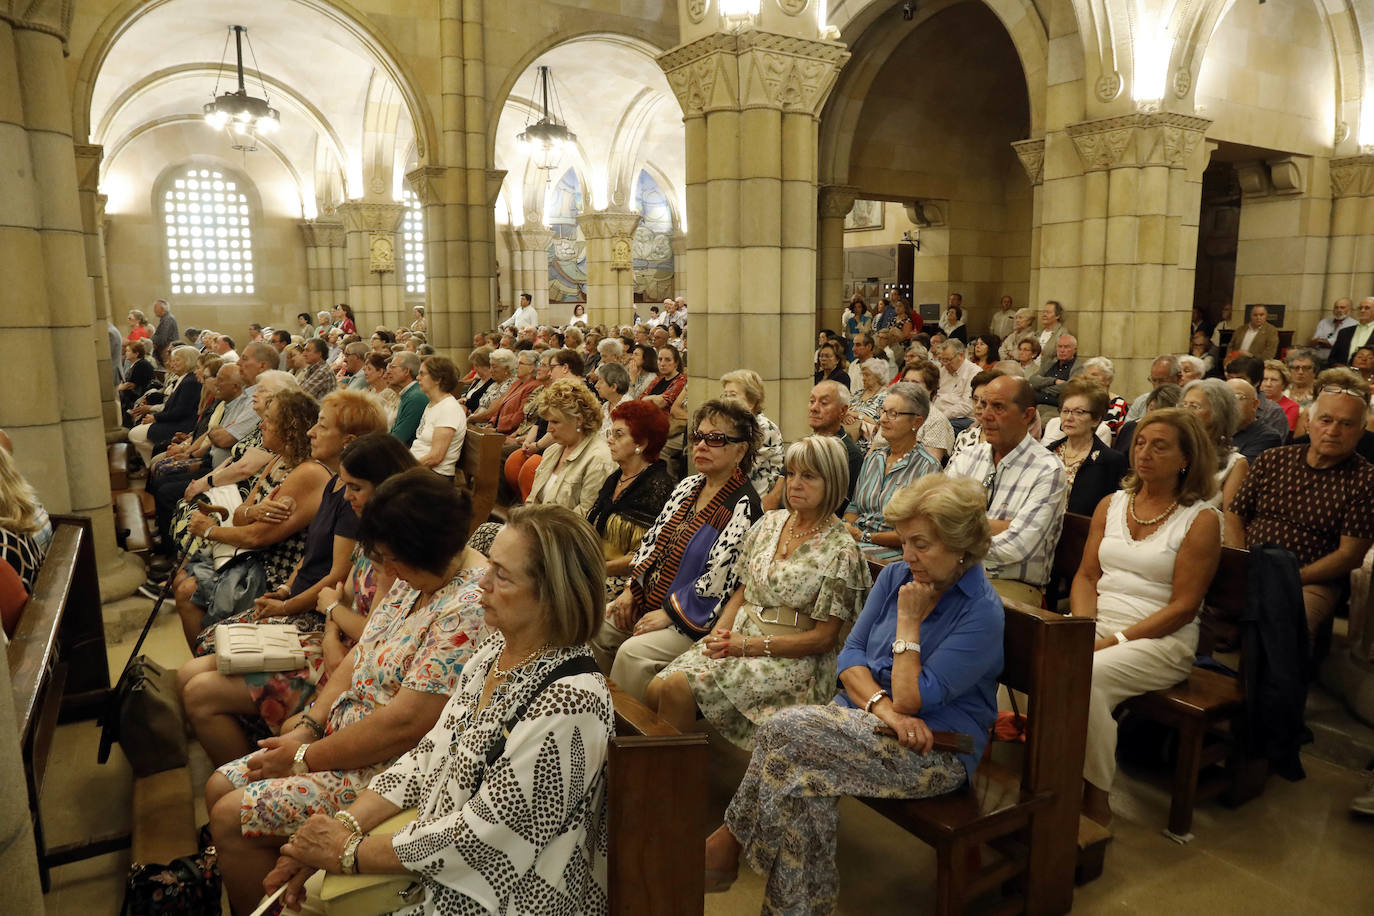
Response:
POLYGON ((427 468, 393 477, 368 501, 357 540, 396 584, 315 703, 206 786, 234 912, 253 909, 297 827, 349 805, 438 720, 482 615, 486 563, 466 549, 471 514, 469 496, 427 468))

